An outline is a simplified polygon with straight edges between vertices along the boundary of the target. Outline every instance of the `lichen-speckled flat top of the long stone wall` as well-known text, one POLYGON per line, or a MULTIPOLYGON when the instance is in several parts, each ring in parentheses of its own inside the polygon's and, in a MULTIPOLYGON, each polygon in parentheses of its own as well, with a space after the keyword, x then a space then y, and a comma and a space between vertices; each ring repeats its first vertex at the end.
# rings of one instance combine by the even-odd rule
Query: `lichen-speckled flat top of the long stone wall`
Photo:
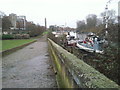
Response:
MULTIPOLYGON (((65 64, 70 73, 76 75, 78 86, 88 87, 88 88, 119 88, 120 86, 114 81, 108 79, 105 75, 94 69, 92 66, 86 64, 84 61, 77 58, 75 55, 69 53, 67 50, 63 49, 61 46, 53 42, 48 38, 48 41, 51 43, 52 47, 55 48, 57 52, 63 57, 65 64), (81 82, 80 79, 84 81, 81 82)), ((74 78, 75 79, 75 78, 74 78)))

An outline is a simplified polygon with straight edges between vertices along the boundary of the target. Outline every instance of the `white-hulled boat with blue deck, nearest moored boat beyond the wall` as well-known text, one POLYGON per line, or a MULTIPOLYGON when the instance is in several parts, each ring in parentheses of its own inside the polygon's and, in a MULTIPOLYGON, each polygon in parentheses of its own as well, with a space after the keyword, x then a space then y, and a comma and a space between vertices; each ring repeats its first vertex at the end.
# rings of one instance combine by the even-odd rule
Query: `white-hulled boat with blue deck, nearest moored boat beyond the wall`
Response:
POLYGON ((101 39, 98 36, 95 34, 89 34, 85 40, 77 42, 76 46, 87 52, 103 54, 103 50, 100 48, 101 43, 101 39))

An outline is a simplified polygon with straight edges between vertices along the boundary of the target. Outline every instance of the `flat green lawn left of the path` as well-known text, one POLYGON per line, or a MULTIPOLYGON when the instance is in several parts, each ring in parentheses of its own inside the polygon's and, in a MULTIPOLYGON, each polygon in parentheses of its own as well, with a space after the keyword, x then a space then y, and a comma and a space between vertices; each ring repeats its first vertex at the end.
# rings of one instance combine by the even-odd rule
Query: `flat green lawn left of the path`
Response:
POLYGON ((23 44, 34 41, 35 39, 22 39, 22 40, 1 40, 0 41, 0 51, 4 51, 7 49, 15 48, 21 46, 23 44))

